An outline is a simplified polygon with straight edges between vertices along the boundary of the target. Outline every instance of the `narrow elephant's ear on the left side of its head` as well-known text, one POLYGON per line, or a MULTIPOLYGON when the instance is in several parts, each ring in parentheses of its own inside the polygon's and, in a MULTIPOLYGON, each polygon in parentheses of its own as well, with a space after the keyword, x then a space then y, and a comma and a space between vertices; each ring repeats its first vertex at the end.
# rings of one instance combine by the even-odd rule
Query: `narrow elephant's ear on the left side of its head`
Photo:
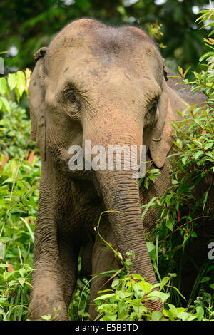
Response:
POLYGON ((46 117, 44 105, 44 56, 47 48, 41 48, 34 55, 36 66, 29 84, 31 113, 31 140, 36 141, 42 160, 46 159, 46 117))

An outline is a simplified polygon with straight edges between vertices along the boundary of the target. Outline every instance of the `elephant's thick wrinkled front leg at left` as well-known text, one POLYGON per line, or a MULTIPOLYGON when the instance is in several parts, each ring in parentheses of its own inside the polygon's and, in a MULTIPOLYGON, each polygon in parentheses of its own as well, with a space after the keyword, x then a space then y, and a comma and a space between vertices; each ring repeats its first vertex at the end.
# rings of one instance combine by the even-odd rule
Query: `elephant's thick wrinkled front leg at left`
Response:
POLYGON ((76 286, 78 250, 73 242, 76 239, 69 239, 72 222, 68 225, 68 215, 62 215, 68 209, 63 204, 72 208, 71 197, 63 195, 67 189, 68 181, 58 175, 47 158, 41 171, 36 216, 30 319, 40 319, 44 314, 54 316, 54 308, 58 307, 61 310, 57 319, 68 319, 68 302, 76 286))

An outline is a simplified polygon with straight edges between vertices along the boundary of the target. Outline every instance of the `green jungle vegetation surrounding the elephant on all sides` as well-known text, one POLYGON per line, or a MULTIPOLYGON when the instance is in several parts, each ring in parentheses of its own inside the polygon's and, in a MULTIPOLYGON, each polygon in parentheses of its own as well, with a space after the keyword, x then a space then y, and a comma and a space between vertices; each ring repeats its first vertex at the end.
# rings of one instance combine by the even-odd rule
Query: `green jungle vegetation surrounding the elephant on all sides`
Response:
MULTIPOLYGON (((166 65, 185 83, 190 83, 193 91, 203 91, 208 97, 203 110, 188 106, 186 113, 192 114, 193 121, 186 138, 182 138, 180 132, 183 123, 179 129, 175 125, 175 133, 180 136, 175 146, 180 156, 177 170, 172 171, 173 188, 163 198, 154 199, 145 210, 151 205, 160 210, 157 230, 153 242, 148 242, 148 250, 161 288, 161 299, 166 304, 165 319, 213 319, 214 267, 210 259, 198 269, 189 301, 185 301, 179 291, 181 263, 178 264, 185 245, 197 239, 194 227, 198 225, 198 217, 203 214, 213 220, 207 205, 210 190, 198 203, 194 202, 188 185, 190 176, 201 179, 205 173, 213 173, 213 11, 209 11, 213 6, 213 1, 205 0, 1 0, 0 320, 26 320, 29 304, 41 170, 39 150, 29 140, 27 91, 34 69, 34 53, 41 46, 48 46, 63 26, 80 17, 101 19, 114 26, 131 24, 145 29, 156 41, 166 65), (204 7, 207 8, 205 12, 199 14, 204 7), (203 14, 203 19, 195 22, 203 14), (184 140, 187 146, 190 141, 185 155, 184 140), (194 171, 190 169, 193 163, 194 171), (178 172, 185 172, 187 179, 179 177, 178 172), (185 196, 181 190, 185 191, 185 196), (182 212, 183 205, 188 209, 188 215, 186 211, 185 214, 182 212), (164 206, 167 210, 163 210, 164 206)), ((158 169, 147 171, 141 182, 148 187, 158 173, 158 169)), ((113 291, 111 297, 106 297, 104 293, 108 292, 103 292, 97 301, 100 318, 163 319, 160 313, 149 314, 143 307, 142 289, 145 295, 151 294, 153 288, 143 279, 141 289, 135 286, 135 278, 129 272, 133 255, 129 257, 129 263, 123 263, 124 269, 117 277, 109 271, 113 291)), ((79 270, 81 272, 81 262, 79 270)), ((91 279, 78 278, 69 309, 71 320, 88 319, 90 282, 91 279)), ((44 316, 44 319, 52 320, 55 316, 44 316)))

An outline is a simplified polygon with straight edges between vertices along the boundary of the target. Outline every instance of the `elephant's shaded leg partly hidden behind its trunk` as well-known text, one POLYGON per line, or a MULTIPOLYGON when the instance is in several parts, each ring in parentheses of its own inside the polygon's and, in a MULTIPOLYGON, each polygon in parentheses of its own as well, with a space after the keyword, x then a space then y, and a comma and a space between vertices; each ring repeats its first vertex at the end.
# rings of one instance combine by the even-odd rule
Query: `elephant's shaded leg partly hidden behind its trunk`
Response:
MULTIPOLYGON (((101 236, 106 242, 111 243, 111 245, 116 249, 115 242, 113 239, 113 232, 111 231, 108 218, 103 216, 102 226, 100 227, 101 236)), ((91 319, 95 319, 98 313, 96 312, 96 303, 93 302, 96 297, 98 297, 98 291, 103 289, 111 289, 111 282, 106 282, 110 277, 97 276, 96 274, 101 274, 102 272, 109 271, 111 269, 118 270, 122 267, 118 259, 114 257, 113 251, 111 249, 106 249, 107 245, 102 241, 102 239, 96 235, 95 243, 93 245, 92 254, 92 273, 94 279, 91 281, 91 297, 88 313, 91 319)))

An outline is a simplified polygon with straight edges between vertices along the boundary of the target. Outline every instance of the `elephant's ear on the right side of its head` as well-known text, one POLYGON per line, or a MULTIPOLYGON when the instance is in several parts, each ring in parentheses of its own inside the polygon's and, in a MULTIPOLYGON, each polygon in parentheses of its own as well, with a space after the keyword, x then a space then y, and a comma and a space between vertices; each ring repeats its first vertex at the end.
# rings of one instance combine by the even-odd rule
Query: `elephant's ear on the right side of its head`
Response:
POLYGON ((178 120, 175 110, 185 108, 183 100, 166 84, 158 103, 158 121, 153 128, 149 150, 157 168, 162 168, 173 145, 173 120, 178 120))

